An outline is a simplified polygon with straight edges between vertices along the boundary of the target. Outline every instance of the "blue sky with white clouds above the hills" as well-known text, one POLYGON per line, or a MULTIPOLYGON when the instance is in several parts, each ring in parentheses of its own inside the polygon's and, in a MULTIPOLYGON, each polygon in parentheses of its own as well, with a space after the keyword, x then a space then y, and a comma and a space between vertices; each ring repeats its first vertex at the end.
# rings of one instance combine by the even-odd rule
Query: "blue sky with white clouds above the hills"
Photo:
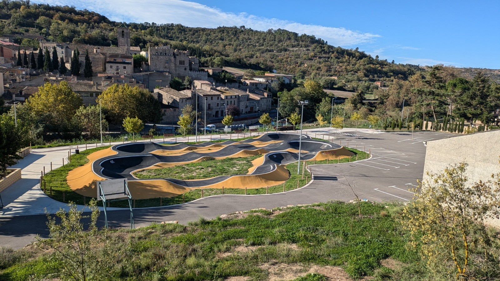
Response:
POLYGON ((32 0, 93 10, 111 20, 191 27, 287 29, 380 59, 500 68, 498 0, 32 0))

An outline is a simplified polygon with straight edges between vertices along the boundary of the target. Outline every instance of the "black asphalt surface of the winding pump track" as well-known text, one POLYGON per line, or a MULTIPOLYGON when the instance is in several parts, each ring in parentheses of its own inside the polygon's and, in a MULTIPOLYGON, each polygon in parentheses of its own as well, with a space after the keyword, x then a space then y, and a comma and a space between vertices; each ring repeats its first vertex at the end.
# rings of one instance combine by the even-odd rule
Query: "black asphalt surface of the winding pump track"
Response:
MULTIPOLYGON (((258 138, 249 138, 241 141, 227 140, 217 144, 224 145, 224 147, 214 150, 213 152, 196 152, 190 151, 182 155, 157 155, 151 153, 152 151, 162 150, 179 150, 186 147, 203 148, 215 144, 213 142, 202 142, 199 144, 185 144, 179 143, 175 145, 160 145, 153 142, 138 142, 118 144, 112 146, 111 149, 117 153, 114 155, 106 156, 97 159, 92 163, 94 172, 104 178, 127 178, 128 180, 137 180, 131 172, 150 167, 154 164, 165 162, 185 162, 194 161, 201 157, 224 157, 236 154, 242 150, 256 150, 265 149, 271 151, 265 154, 264 161, 261 165, 256 167, 251 174, 263 174, 273 171, 277 165, 286 164, 297 161, 298 153, 284 151, 289 148, 299 148, 299 135, 298 133, 266 133, 258 138), (262 142, 278 140, 279 142, 271 142, 267 145, 257 147, 251 142, 259 140, 262 142)), ((302 134, 301 150, 308 151, 301 153, 300 159, 306 160, 314 157, 319 151, 340 148, 341 146, 331 142, 311 139, 308 135, 302 134)), ((162 178, 170 182, 186 186, 198 187, 214 184, 227 179, 230 176, 221 175, 207 179, 200 180, 179 180, 175 178, 162 178)))

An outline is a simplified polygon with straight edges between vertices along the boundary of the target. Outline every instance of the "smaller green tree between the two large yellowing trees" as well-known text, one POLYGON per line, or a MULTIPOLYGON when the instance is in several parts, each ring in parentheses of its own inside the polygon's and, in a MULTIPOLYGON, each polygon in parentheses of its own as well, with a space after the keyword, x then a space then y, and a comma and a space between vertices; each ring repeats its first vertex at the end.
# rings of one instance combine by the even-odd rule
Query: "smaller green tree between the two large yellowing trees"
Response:
MULTIPOLYGON (((102 115, 102 127, 107 127, 107 121, 102 115)), ((89 139, 97 138, 100 132, 100 112, 99 107, 96 105, 89 105, 87 107, 80 106, 74 114, 75 122, 80 126, 81 131, 88 133, 89 139)))

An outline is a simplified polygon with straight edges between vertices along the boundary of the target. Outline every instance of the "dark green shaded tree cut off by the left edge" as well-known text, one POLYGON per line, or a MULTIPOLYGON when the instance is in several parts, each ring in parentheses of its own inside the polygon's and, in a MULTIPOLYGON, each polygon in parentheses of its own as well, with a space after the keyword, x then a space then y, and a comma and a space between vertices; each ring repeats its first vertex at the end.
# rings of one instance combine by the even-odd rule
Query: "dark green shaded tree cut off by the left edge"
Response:
POLYGON ((7 114, 0 115, 0 179, 7 166, 15 164, 21 157, 17 151, 25 146, 21 126, 14 125, 14 118, 7 114))

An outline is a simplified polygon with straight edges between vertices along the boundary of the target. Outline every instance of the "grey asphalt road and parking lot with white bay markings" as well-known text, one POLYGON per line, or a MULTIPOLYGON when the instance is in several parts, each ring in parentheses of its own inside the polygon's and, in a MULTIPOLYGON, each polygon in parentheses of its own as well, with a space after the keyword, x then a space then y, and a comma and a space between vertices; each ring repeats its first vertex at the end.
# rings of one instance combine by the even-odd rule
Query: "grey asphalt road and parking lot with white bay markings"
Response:
MULTIPOLYGON (((415 187, 423 175, 424 141, 456 135, 432 131, 413 133, 412 137, 411 132, 367 129, 343 129, 336 134, 329 128, 312 129, 308 133, 324 139, 336 136, 333 142, 369 151, 371 158, 352 163, 309 165, 312 182, 292 191, 267 195, 215 195, 181 205, 134 209, 135 226, 165 220, 185 224, 199 217, 210 219, 259 207, 349 201, 355 198, 354 193, 370 201, 407 201, 413 195, 408 189, 415 187)), ((45 221, 43 214, 1 215, 0 245, 20 248, 33 241, 37 234, 46 237, 45 221)), ((108 221, 110 227, 129 227, 129 211, 108 211, 108 221)), ((99 225, 103 225, 102 213, 99 225)))

